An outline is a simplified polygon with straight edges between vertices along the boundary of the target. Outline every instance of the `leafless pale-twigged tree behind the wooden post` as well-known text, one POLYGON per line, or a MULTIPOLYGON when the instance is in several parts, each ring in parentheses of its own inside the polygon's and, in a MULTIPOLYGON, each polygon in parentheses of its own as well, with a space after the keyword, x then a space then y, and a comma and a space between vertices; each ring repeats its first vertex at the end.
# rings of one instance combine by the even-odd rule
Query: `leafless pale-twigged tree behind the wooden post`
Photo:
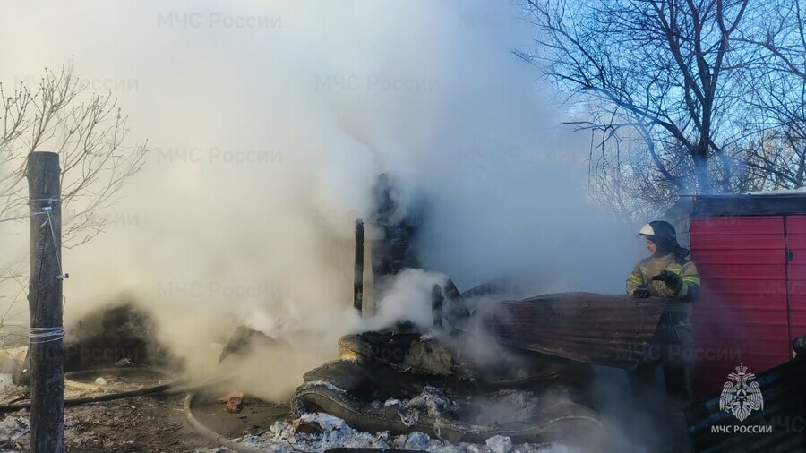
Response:
MULTIPOLYGON (((0 219, 28 214, 25 163, 34 150, 60 156, 64 224, 63 244, 75 247, 98 235, 107 221, 101 209, 116 201, 126 181, 137 173, 147 143, 126 145, 127 117, 111 93, 89 90, 73 75, 72 65, 45 70, 39 86, 24 82, 8 89, 0 83, 0 219)), ((27 291, 21 263, 0 269, 5 315, 27 291), (19 290, 19 291, 18 291, 19 290)))

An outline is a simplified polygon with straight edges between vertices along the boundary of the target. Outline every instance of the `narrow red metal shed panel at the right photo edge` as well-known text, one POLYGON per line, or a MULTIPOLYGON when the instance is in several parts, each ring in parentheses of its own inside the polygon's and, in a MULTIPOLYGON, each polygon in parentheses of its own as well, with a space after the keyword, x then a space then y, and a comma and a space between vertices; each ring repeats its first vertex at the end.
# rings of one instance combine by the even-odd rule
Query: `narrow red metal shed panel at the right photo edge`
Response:
POLYGON ((786 265, 792 339, 806 334, 806 216, 786 217, 786 265))

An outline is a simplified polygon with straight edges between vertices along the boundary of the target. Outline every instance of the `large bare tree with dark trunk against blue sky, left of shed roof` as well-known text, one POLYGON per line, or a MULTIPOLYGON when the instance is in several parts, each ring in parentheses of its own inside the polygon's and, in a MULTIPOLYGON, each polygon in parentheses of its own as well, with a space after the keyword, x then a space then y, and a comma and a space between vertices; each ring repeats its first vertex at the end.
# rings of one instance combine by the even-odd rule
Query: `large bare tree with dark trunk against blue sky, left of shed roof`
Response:
POLYGON ((741 139, 732 37, 748 3, 527 0, 536 47, 517 54, 569 95, 578 129, 596 132, 594 181, 621 178, 636 196, 649 189, 647 202, 729 192, 741 139))

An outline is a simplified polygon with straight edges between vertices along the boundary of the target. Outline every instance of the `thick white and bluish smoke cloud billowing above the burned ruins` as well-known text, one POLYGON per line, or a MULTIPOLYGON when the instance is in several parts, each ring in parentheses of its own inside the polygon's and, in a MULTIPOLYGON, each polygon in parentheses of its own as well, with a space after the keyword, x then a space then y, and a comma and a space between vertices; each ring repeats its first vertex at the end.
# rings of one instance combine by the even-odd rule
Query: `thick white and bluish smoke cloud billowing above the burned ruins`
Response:
MULTIPOLYGON (((154 148, 107 232, 64 252, 68 322, 128 292, 207 374, 210 344, 238 324, 293 338, 266 358, 286 366, 254 370, 263 394, 286 395, 358 325, 353 221, 383 172, 404 210, 422 209, 424 268, 460 290, 519 273, 541 292, 622 292, 639 244, 587 203, 587 143, 511 54, 531 30, 509 2, 2 9, 0 39, 19 46, 0 80, 35 83, 74 56, 154 148)), ((7 256, 25 255, 24 231, 0 236, 7 256)), ((385 313, 405 311, 388 298, 385 313)))

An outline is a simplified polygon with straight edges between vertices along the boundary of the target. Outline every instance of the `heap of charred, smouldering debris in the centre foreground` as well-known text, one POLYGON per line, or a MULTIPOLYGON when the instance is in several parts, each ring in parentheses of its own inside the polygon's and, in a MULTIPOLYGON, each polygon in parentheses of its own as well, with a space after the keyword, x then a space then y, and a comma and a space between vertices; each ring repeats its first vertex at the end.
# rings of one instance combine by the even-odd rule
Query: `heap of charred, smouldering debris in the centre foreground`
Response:
POLYGON ((325 413, 364 432, 423 432, 451 443, 484 443, 495 436, 582 447, 603 441, 595 411, 570 399, 553 400, 543 391, 584 365, 546 358, 541 364, 554 372, 527 363, 531 370, 510 369, 516 375, 485 375, 450 346, 459 345, 458 338, 438 337, 390 330, 341 338, 340 360, 305 373, 292 400, 294 415, 325 413), (486 401, 504 388, 540 390, 544 401, 518 420, 485 419, 486 401))

